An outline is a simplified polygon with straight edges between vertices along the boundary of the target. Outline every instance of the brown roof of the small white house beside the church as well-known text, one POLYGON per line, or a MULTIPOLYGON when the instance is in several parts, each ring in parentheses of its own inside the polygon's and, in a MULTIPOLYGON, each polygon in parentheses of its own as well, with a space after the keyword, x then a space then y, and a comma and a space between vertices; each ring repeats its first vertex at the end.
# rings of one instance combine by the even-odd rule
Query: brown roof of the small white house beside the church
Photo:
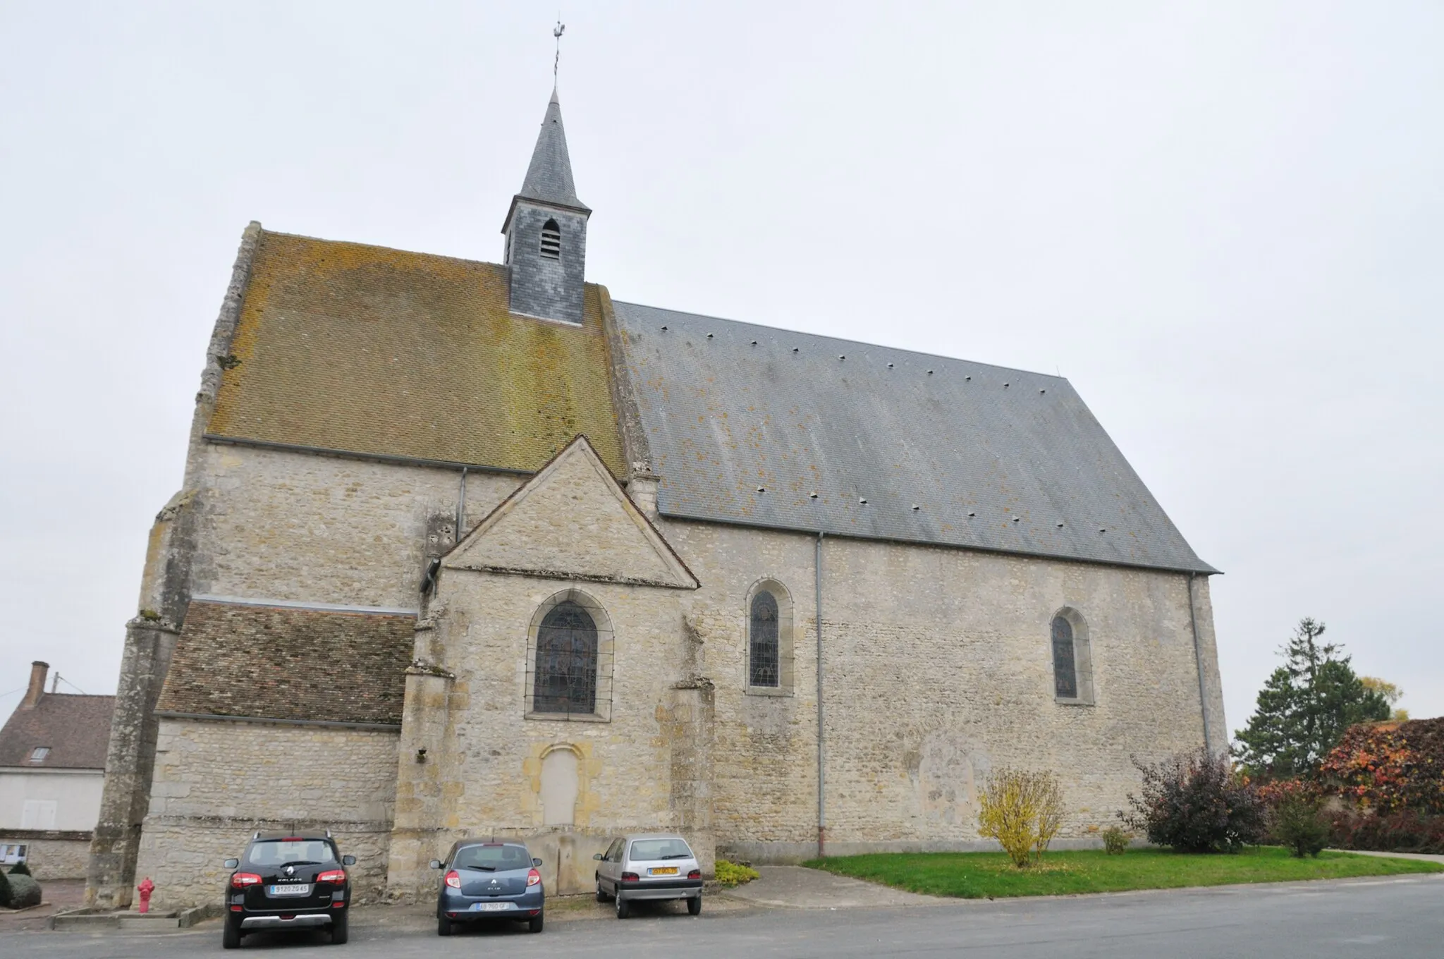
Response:
POLYGON ((114 696, 40 693, 35 706, 17 706, 0 728, 0 765, 103 770, 114 712, 114 696), (30 763, 30 751, 38 745, 51 747, 51 754, 43 763, 30 763))

